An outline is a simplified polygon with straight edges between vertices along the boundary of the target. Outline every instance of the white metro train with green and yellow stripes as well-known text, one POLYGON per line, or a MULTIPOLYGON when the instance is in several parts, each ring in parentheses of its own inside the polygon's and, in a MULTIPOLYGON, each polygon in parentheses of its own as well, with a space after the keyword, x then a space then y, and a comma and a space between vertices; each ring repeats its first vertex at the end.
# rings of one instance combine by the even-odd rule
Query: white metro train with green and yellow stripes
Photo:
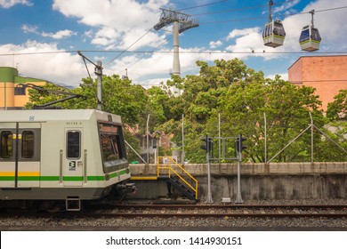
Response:
POLYGON ((81 200, 106 197, 130 179, 117 115, 95 109, 2 110, 0 139, 2 202, 65 200, 67 210, 79 210, 81 200))

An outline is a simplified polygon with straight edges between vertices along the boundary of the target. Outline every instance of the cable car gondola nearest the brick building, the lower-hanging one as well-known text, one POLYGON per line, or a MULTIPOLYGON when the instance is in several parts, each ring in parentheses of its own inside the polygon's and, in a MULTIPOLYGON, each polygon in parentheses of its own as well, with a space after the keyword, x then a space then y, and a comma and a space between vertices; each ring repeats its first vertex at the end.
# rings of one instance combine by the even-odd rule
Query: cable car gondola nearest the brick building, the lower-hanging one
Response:
POLYGON ((319 50, 321 37, 319 35, 319 30, 313 26, 314 10, 312 10, 310 13, 312 15, 311 25, 303 27, 302 34, 299 38, 299 43, 303 51, 313 52, 319 50))

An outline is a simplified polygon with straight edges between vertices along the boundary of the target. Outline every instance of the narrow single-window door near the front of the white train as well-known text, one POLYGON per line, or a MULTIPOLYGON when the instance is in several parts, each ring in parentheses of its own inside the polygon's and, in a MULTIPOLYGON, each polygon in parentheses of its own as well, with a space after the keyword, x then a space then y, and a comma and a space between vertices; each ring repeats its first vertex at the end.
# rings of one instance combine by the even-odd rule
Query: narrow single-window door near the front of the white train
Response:
POLYGON ((64 186, 81 187, 83 184, 84 155, 83 150, 83 129, 65 129, 65 149, 63 155, 63 177, 64 186))

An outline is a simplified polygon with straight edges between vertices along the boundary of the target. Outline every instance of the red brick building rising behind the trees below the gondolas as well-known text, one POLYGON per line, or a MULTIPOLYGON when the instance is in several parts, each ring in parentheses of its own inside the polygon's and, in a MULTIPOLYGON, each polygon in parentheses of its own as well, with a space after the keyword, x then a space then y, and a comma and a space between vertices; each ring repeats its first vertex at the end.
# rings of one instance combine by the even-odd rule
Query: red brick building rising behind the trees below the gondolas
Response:
POLYGON ((316 94, 326 111, 327 103, 335 95, 347 89, 347 56, 303 56, 288 68, 288 80, 292 84, 316 88, 316 94))

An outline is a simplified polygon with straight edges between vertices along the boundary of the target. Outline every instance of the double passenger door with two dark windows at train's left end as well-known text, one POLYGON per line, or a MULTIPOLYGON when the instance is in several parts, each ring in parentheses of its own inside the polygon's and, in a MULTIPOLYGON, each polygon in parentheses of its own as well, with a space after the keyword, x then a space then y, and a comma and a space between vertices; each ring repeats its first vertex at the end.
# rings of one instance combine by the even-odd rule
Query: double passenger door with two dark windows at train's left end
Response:
POLYGON ((40 123, 0 123, 0 187, 40 186, 40 123))

